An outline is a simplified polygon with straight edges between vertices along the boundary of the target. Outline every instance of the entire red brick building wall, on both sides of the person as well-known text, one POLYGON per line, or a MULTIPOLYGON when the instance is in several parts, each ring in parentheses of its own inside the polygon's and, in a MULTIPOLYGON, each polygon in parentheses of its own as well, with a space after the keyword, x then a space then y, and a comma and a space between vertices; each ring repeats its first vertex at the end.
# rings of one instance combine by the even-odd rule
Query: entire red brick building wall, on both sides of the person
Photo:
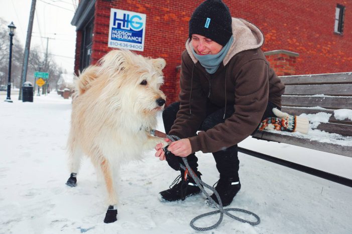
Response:
MULTIPOLYGON (((178 95, 175 68, 180 65, 180 55, 188 37, 188 21, 201 2, 96 0, 92 63, 112 49, 107 47, 110 8, 146 14, 145 50, 136 53, 166 60, 163 90, 168 96, 168 103, 171 103, 178 95)), ((223 2, 229 6, 232 17, 247 19, 263 31, 266 39, 263 51, 287 50, 298 53, 299 57, 295 61, 297 75, 352 70, 352 1, 223 2), (336 4, 346 7, 342 36, 333 33, 336 4)))

